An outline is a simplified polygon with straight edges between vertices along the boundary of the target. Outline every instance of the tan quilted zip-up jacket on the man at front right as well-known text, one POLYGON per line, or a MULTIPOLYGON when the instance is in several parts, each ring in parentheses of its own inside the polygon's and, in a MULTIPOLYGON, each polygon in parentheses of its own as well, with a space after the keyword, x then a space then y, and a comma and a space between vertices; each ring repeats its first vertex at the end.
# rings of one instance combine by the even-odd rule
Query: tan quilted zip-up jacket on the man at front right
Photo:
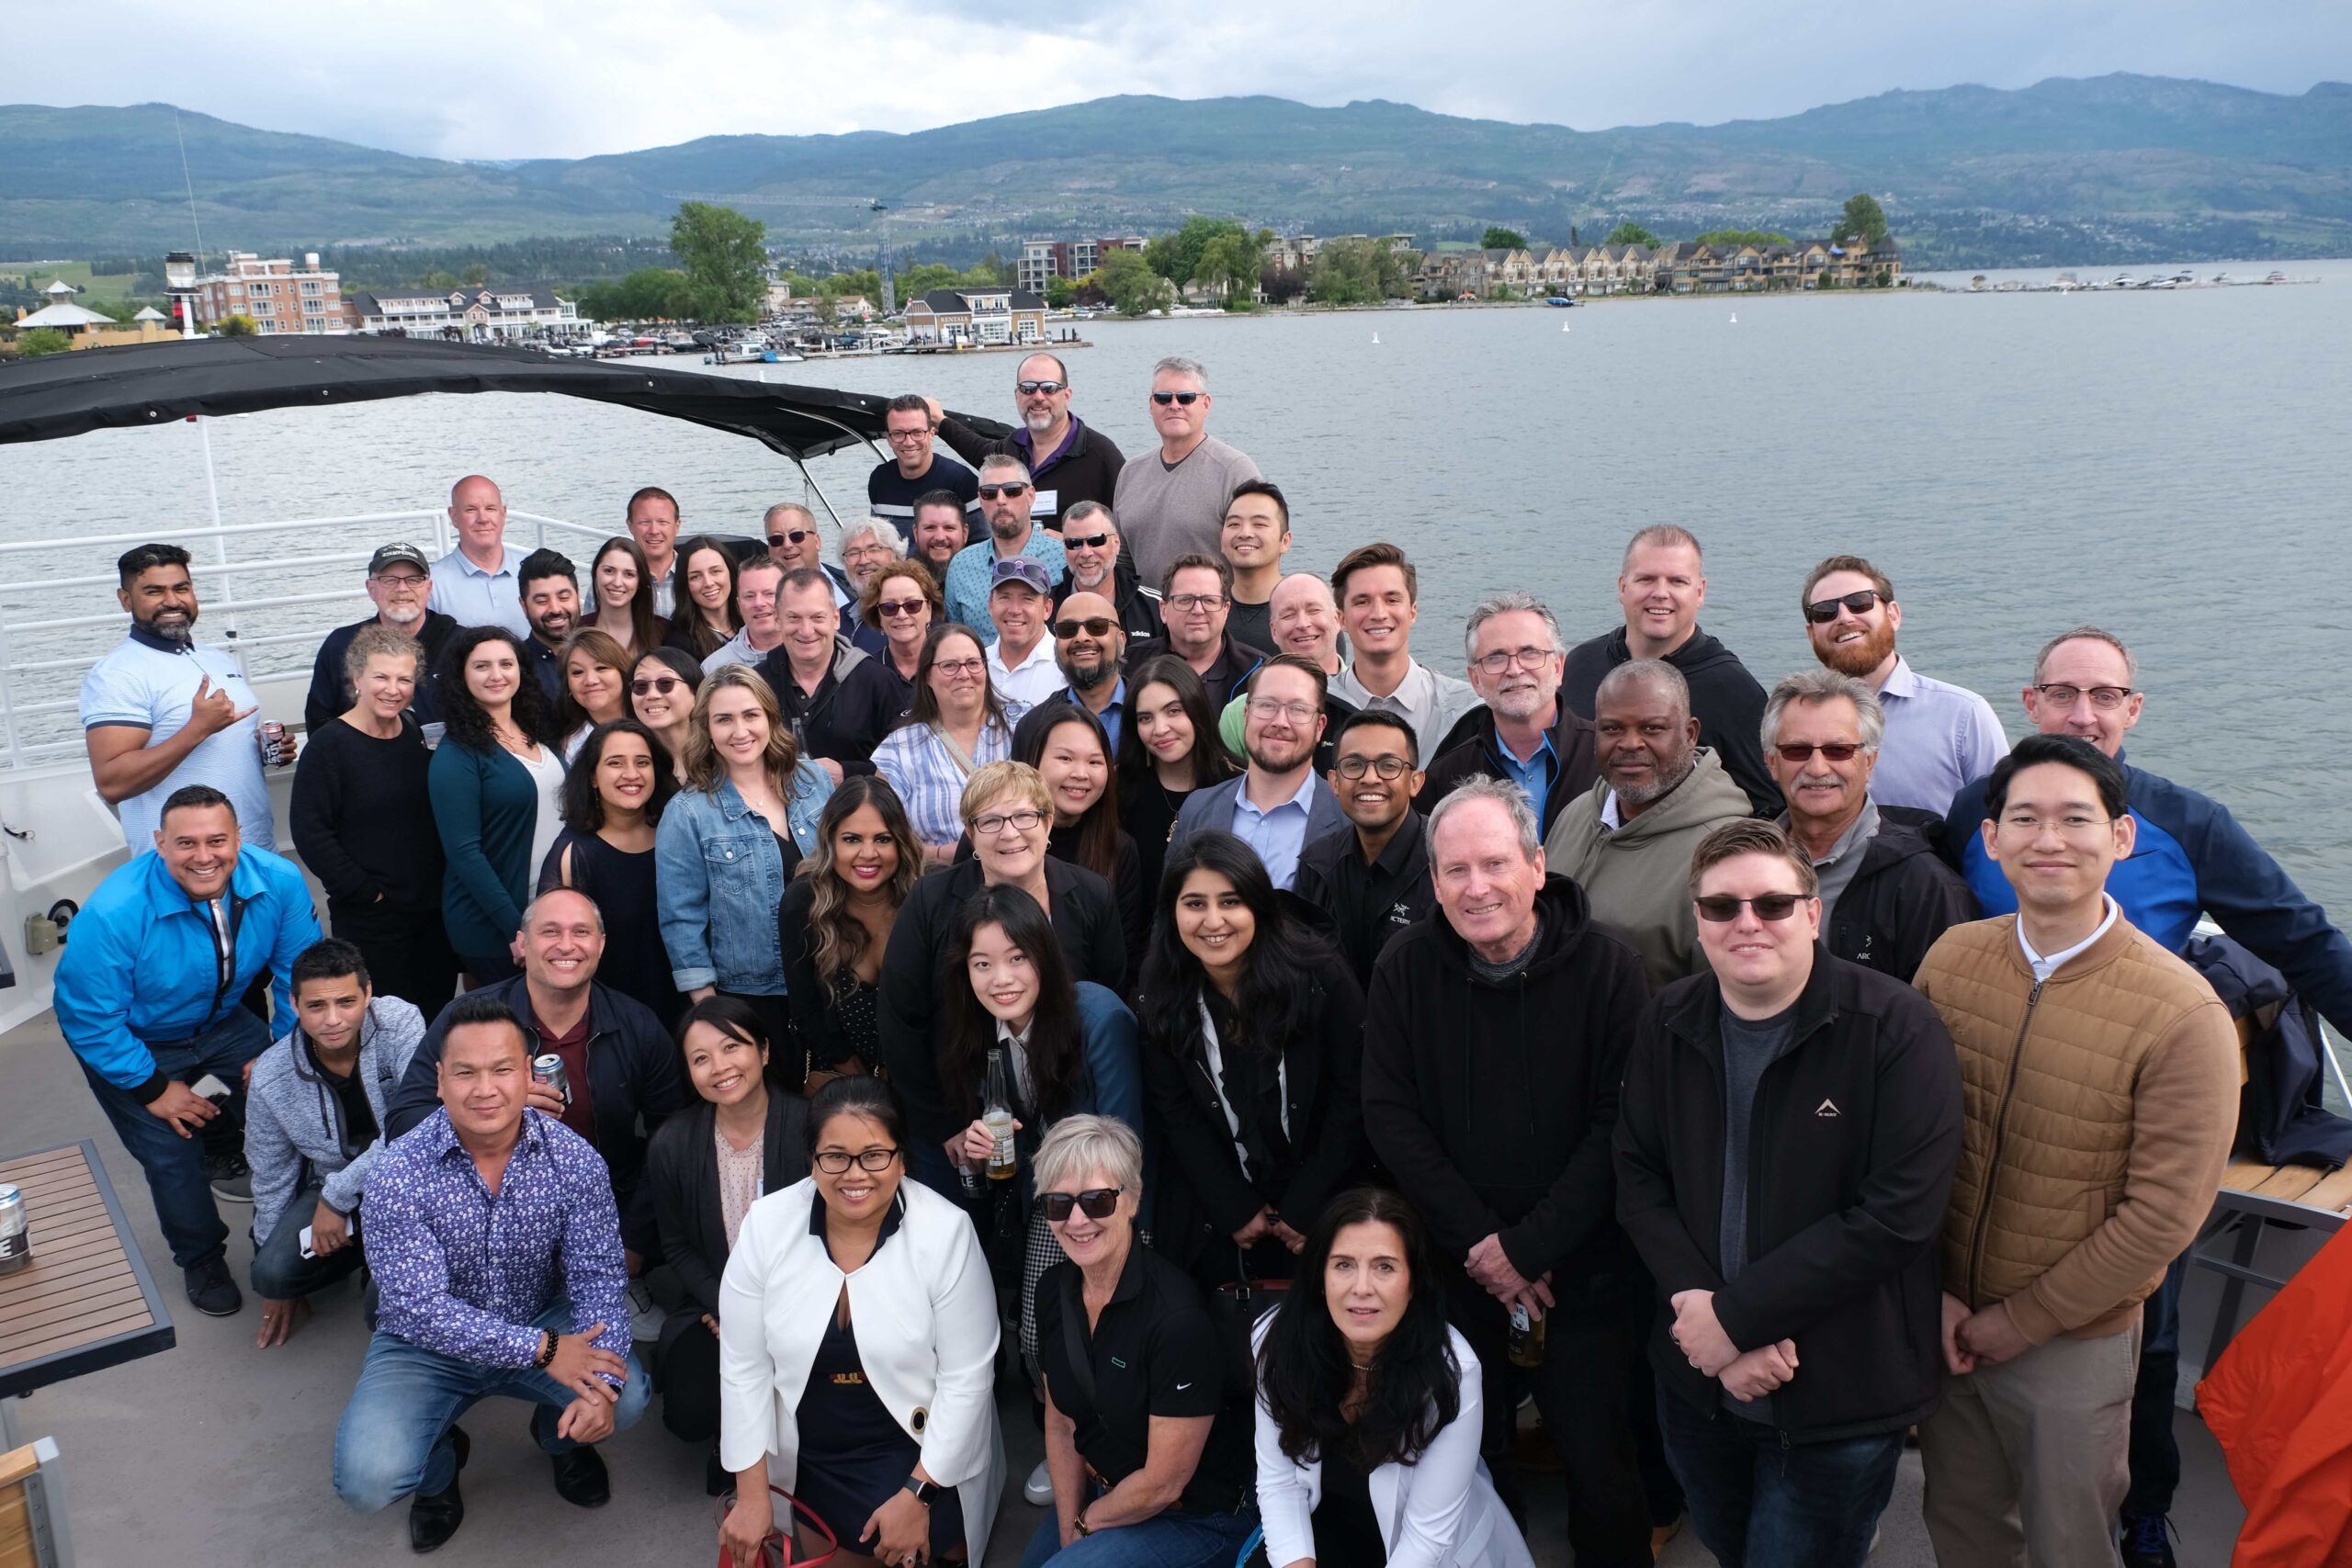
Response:
POLYGON ((2006 1302, 2032 1345, 2122 1333, 2220 1187, 2230 1009, 2129 919, 2039 983, 2016 914, 1952 926, 1919 990, 1959 1046, 1966 1107, 1943 1288, 2006 1302))

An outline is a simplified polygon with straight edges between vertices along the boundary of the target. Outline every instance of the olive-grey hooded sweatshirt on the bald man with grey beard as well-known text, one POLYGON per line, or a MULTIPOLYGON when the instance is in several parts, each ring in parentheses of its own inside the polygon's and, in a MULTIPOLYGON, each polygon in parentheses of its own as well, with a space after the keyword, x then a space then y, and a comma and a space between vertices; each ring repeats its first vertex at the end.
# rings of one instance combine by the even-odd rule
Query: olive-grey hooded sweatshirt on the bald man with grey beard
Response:
POLYGON ((1543 837, 1543 863, 1592 898, 1592 919, 1616 926, 1649 964, 1649 983, 1672 985, 1708 966, 1691 914, 1691 851, 1722 823, 1748 816, 1748 795, 1705 745, 1665 799, 1625 823, 1602 825, 1609 780, 1569 802, 1543 837))

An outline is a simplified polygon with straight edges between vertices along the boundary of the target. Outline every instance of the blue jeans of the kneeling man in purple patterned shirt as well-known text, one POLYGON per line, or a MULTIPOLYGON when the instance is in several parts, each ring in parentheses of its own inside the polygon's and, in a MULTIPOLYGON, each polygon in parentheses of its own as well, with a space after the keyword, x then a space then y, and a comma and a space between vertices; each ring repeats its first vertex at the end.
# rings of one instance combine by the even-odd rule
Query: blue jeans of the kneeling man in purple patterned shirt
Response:
MULTIPOLYGON (((548 1307, 532 1319, 532 1328, 572 1333, 572 1305, 548 1307)), ((644 1368, 630 1352, 612 1429, 635 1427, 649 1394, 644 1368)), ((334 1493, 355 1512, 374 1514, 409 1493, 449 1490, 456 1481, 449 1427, 477 1401, 494 1396, 539 1406, 532 1410, 532 1436, 543 1450, 574 1448, 572 1439, 555 1436, 555 1415, 576 1394, 546 1373, 459 1361, 379 1331, 367 1342, 360 1387, 350 1392, 334 1429, 334 1493)))

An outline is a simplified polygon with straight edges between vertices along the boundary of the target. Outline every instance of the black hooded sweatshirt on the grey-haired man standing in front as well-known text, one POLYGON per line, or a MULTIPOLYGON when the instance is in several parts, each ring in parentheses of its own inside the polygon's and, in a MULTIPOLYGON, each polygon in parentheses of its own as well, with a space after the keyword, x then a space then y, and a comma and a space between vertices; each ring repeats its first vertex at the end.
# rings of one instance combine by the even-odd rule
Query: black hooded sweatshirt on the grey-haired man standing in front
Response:
POLYGON ((1364 1133, 1442 1253, 1501 1234, 1557 1295, 1632 1262, 1609 1140, 1649 983, 1566 877, 1536 910, 1536 950, 1501 983, 1442 910, 1388 945, 1364 1004, 1364 1133))

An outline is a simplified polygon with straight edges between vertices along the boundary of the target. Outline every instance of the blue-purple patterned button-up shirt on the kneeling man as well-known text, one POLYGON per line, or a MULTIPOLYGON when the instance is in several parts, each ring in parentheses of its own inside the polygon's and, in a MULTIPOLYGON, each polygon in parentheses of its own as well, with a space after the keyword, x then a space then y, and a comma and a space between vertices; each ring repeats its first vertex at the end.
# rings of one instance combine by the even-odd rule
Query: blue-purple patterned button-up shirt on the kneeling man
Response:
POLYGON ((564 1300, 574 1328, 604 1324, 597 1347, 628 1356, 628 1265, 612 1175, 562 1121, 522 1112, 492 1192, 449 1112, 435 1110, 376 1157, 365 1213, 360 1239, 383 1295, 383 1333, 454 1361, 529 1366, 539 1359, 532 1319, 564 1300))

